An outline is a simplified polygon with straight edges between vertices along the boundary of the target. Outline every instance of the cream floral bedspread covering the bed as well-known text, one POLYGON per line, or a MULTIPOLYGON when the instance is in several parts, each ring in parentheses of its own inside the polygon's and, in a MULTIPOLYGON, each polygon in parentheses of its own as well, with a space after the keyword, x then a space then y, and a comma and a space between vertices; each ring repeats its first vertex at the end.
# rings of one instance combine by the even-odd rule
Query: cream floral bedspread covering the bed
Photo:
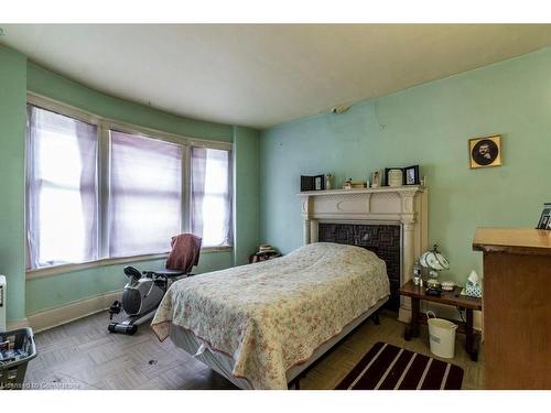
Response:
POLYGON ((318 242, 175 282, 151 326, 161 340, 171 323, 191 330, 233 357, 233 374, 255 389, 287 389, 288 369, 389 294, 375 253, 318 242))

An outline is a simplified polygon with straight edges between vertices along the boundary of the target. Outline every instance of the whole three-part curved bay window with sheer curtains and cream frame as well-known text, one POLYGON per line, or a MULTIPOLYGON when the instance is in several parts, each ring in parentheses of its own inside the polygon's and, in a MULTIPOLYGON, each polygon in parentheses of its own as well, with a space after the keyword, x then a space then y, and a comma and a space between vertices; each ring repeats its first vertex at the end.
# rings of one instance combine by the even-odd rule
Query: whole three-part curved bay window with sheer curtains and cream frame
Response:
POLYGON ((181 232, 207 248, 233 244, 229 143, 29 99, 29 270, 165 253, 181 232))

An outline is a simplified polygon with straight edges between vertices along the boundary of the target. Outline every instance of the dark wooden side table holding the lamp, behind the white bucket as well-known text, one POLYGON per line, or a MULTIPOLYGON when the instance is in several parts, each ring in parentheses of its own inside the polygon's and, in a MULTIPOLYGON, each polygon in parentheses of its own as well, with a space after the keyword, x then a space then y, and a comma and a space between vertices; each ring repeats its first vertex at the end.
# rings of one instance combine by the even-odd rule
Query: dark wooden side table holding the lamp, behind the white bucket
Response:
POLYGON ((420 311, 420 302, 423 300, 465 309, 465 323, 456 319, 452 322, 460 325, 457 333, 465 334, 466 350, 471 355, 471 359, 477 361, 479 337, 473 329, 473 311, 482 311, 482 298, 461 295, 462 287, 460 286, 455 286, 453 291, 442 291, 440 297, 425 295, 425 290, 424 286, 415 285, 413 280, 400 287, 400 295, 411 298, 411 323, 406 327, 403 338, 409 341, 412 337, 419 337, 419 324, 426 324, 426 316, 420 311))

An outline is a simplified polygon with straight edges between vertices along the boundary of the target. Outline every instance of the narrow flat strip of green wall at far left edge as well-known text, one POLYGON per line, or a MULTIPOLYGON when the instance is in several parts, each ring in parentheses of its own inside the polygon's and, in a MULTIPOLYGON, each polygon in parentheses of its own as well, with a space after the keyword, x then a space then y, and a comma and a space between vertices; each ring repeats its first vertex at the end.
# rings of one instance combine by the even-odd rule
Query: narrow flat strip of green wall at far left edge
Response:
POLYGON ((0 274, 8 280, 9 320, 25 316, 25 56, 0 46, 0 274))

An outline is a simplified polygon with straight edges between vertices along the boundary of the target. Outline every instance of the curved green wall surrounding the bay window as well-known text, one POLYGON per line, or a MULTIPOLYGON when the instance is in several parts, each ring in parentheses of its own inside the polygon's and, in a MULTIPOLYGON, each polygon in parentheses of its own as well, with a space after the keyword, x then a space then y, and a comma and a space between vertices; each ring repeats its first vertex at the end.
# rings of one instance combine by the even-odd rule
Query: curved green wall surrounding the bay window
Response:
MULTIPOLYGON (((8 320, 75 301, 120 290, 125 265, 160 269, 163 260, 130 262, 33 279, 24 274, 24 131, 26 90, 94 112, 105 118, 147 128, 217 141, 236 140, 235 186, 247 187, 246 203, 238 203, 236 222, 258 215, 258 181, 248 171, 258 171, 258 131, 186 119, 147 106, 118 99, 68 80, 0 46, 0 273, 9 280, 8 320), (7 178, 9 176, 9 178, 7 178), (245 181, 241 183, 241 180, 245 181)), ((258 220, 257 220, 258 221, 258 220)), ((258 226, 235 233, 234 251, 245 257, 258 243, 258 226), (249 251, 250 249, 250 251, 249 251)), ((215 271, 238 261, 234 251, 203 252, 195 272, 215 271)), ((239 260, 242 262, 242 260, 239 260)))

